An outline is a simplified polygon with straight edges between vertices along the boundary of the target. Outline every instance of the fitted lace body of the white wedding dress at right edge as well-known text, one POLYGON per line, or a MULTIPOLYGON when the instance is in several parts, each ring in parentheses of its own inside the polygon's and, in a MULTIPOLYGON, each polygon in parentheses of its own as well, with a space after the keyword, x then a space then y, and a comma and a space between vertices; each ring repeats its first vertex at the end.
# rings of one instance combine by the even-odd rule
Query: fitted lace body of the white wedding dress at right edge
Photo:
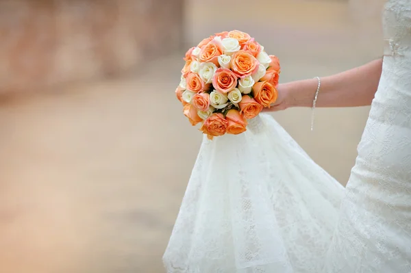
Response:
POLYGON ((384 9, 384 62, 324 272, 411 272, 411 0, 384 9))

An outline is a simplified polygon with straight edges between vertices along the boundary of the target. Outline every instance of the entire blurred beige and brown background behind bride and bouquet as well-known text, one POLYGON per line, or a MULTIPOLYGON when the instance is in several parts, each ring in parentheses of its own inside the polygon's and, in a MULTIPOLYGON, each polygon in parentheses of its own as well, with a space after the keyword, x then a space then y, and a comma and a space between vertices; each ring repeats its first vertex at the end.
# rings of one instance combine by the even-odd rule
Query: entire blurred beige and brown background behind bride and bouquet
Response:
MULTIPOLYGON (((201 143, 174 90, 202 38, 249 32, 279 56, 281 82, 380 55, 379 23, 360 27, 343 0, 18 0, 0 13, 4 273, 164 272, 201 143)), ((317 109, 313 132, 310 109, 273 116, 345 185, 368 112, 317 109)))

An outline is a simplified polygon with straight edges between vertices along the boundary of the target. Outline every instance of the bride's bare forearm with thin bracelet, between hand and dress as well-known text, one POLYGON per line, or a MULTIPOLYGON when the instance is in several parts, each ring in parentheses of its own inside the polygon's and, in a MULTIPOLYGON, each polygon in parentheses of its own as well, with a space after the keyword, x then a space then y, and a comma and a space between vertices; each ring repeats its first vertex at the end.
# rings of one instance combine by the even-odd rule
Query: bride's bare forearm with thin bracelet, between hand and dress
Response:
MULTIPOLYGON (((356 107, 371 105, 382 73, 382 60, 321 78, 316 107, 356 107)), ((284 83, 288 107, 311 107, 317 79, 284 83)))

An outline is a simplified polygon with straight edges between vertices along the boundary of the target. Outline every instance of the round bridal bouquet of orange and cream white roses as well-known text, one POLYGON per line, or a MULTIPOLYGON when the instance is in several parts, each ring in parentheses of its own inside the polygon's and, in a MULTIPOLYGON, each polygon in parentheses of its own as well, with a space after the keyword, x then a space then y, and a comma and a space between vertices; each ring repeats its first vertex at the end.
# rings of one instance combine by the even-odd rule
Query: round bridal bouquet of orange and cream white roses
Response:
POLYGON ((184 115, 212 140, 246 131, 247 120, 277 99, 279 60, 249 34, 233 30, 214 34, 184 57, 177 99, 184 115))

